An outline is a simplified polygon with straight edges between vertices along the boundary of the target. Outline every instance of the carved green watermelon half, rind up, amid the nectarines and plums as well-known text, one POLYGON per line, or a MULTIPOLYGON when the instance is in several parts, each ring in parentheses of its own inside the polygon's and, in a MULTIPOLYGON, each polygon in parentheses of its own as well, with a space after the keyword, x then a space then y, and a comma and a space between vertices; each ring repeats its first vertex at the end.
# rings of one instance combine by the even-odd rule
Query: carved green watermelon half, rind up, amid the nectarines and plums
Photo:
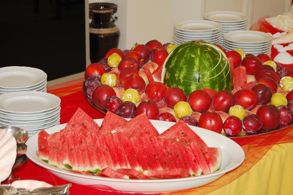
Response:
POLYGON ((163 64, 161 82, 179 87, 187 96, 196 89, 233 90, 231 67, 224 52, 204 41, 188 41, 174 48, 163 64))

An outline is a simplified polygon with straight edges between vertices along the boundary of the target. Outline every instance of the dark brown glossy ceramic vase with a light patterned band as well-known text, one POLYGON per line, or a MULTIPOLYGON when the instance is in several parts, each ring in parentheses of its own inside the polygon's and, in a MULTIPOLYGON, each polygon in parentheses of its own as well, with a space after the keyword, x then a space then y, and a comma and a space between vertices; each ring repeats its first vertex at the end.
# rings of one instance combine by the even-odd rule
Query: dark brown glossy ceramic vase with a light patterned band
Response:
POLYGON ((90 59, 98 62, 106 53, 118 47, 120 31, 111 20, 117 11, 117 5, 112 3, 89 4, 90 19, 90 59))

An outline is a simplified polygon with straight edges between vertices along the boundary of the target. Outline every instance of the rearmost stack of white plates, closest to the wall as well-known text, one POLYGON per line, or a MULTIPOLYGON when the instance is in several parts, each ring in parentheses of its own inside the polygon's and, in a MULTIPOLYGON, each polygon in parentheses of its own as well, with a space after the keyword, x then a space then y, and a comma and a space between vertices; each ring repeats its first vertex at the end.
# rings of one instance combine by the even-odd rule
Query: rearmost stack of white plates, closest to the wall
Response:
POLYGON ((223 25, 220 45, 223 45, 223 35, 234 30, 246 30, 248 26, 248 16, 234 11, 212 11, 205 13, 204 20, 219 22, 223 25))

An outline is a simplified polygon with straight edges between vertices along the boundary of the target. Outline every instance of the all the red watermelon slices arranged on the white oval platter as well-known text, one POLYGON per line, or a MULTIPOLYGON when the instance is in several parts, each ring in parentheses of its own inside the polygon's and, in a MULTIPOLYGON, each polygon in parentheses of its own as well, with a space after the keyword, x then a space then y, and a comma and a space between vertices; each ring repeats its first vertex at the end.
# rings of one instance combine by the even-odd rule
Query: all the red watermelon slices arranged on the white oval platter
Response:
POLYGON ((60 169, 119 179, 199 176, 222 164, 221 148, 208 147, 184 121, 159 134, 144 113, 127 121, 108 111, 99 126, 81 108, 64 129, 40 131, 38 150, 60 169))

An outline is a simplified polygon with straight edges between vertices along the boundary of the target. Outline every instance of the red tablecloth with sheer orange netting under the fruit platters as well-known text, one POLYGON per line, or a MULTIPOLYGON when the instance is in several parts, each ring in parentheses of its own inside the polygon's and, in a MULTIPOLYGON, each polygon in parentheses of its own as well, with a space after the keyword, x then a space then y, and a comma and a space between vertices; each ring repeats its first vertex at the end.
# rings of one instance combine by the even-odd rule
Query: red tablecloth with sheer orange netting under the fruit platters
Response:
MULTIPOLYGON (((81 107, 92 118, 103 118, 104 115, 88 104, 84 98, 82 92, 82 81, 83 78, 48 88, 49 93, 55 94, 61 98, 61 123, 67 123, 78 107, 81 107)), ((246 156, 244 163, 240 167, 205 186, 174 193, 185 194, 187 192, 193 192, 196 194, 206 194, 219 189, 222 186, 226 186, 244 173, 248 172, 251 167, 261 160, 261 158, 273 145, 280 143, 292 143, 293 127, 266 135, 235 138, 234 141, 236 141, 243 148, 246 156)), ((69 183, 54 176, 47 169, 35 165, 30 160, 28 160, 26 167, 16 174, 20 176, 21 179, 35 179, 45 181, 52 185, 69 183)), ((79 184, 72 184, 70 193, 125 194, 117 191, 102 191, 99 189, 99 186, 84 186, 79 184)))

